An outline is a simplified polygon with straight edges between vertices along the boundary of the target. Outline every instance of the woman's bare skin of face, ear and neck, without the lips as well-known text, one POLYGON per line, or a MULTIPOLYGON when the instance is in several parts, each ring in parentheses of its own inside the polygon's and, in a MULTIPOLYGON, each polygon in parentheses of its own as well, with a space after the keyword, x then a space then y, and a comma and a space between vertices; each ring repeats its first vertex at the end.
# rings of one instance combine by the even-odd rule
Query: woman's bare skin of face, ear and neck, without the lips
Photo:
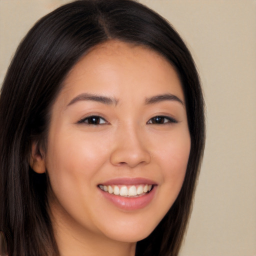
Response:
POLYGON ((90 50, 52 106, 46 152, 32 144, 30 165, 49 175, 60 255, 134 255, 136 241, 150 234, 177 197, 189 151, 184 95, 170 63, 116 40, 90 50), (112 102, 85 100, 82 93, 112 102), (161 94, 176 98, 146 101, 161 94), (101 116, 100 124, 88 124, 89 115, 101 116), (155 123, 159 115, 170 120, 155 123), (136 210, 109 202, 97 185, 116 177, 153 180, 152 200, 136 210))

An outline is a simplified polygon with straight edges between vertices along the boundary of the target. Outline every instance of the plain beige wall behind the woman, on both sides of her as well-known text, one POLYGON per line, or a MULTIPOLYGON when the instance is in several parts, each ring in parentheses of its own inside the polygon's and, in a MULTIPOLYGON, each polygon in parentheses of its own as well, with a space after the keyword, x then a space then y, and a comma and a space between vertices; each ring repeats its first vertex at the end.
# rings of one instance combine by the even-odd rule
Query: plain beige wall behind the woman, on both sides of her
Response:
MULTIPOLYGON (((0 83, 19 40, 68 0, 0 0, 0 83)), ((180 256, 256 255, 256 1, 140 0, 191 49, 207 105, 205 157, 180 256)))

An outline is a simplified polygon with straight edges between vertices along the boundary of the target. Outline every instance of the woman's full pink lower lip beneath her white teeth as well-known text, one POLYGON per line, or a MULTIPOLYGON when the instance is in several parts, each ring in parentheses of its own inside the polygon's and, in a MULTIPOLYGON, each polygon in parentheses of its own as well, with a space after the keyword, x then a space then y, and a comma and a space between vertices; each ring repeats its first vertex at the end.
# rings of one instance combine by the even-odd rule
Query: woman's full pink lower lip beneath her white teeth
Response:
POLYGON ((99 188, 102 195, 111 201, 115 206, 123 210, 137 210, 147 206, 154 197, 156 185, 150 190, 149 193, 137 197, 125 197, 115 194, 110 194, 99 188))

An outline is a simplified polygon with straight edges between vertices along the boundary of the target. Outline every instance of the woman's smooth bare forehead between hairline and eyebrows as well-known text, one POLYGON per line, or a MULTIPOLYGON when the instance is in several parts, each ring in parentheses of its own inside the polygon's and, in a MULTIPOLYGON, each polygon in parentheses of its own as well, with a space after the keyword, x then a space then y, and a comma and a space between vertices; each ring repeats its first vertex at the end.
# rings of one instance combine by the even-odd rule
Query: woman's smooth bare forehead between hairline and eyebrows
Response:
POLYGON ((173 93, 184 101, 178 75, 163 56, 117 40, 96 45, 70 70, 60 95, 70 99, 82 92, 130 99, 173 93))

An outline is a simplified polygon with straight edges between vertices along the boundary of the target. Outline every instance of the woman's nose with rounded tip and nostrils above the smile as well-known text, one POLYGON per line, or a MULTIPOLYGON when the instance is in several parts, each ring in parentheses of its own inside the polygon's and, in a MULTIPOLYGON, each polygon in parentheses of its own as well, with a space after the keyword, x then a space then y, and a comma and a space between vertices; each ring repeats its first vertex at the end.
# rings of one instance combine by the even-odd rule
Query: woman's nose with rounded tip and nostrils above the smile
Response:
POLYGON ((116 136, 110 161, 113 165, 134 168, 150 162, 150 152, 146 137, 136 128, 121 129, 116 136))

